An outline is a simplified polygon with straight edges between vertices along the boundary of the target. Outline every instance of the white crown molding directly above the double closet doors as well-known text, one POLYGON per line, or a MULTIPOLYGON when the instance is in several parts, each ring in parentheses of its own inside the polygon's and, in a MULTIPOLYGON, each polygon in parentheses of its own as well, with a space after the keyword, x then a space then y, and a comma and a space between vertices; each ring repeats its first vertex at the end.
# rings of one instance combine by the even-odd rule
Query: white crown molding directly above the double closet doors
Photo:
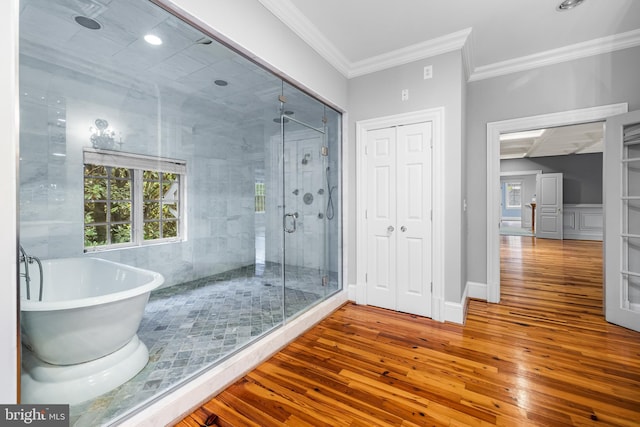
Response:
POLYGON ((460 50, 464 47, 471 28, 447 34, 432 40, 426 40, 401 49, 372 56, 362 61, 352 62, 348 78, 362 76, 398 65, 408 64, 424 58, 460 50))

